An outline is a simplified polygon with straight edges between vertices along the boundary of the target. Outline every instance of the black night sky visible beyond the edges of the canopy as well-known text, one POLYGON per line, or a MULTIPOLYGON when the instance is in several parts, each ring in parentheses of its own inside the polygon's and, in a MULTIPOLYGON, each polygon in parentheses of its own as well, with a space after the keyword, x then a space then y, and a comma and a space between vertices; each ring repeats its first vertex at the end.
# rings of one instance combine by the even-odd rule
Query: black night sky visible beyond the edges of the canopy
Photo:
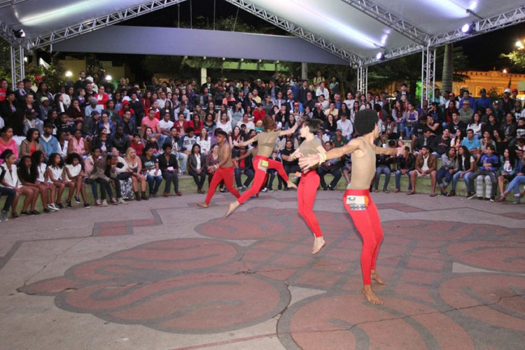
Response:
MULTIPOLYGON (((205 18, 209 18, 210 22, 213 22, 215 1, 216 18, 235 16, 237 13, 237 6, 223 0, 193 1, 192 11, 194 21, 197 16, 204 16, 205 18)), ((148 26, 154 24, 156 27, 177 27, 179 14, 181 21, 189 22, 190 1, 184 1, 180 6, 169 6, 164 10, 155 11, 154 13, 128 20, 123 22, 123 25, 148 26)), ((239 10, 239 18, 255 27, 269 26, 269 23, 265 22, 265 20, 255 17, 244 10, 239 10)), ((275 27, 272 34, 286 35, 286 32, 275 27)), ((488 34, 474 36, 454 43, 454 45, 461 45, 463 47, 463 51, 468 56, 470 69, 486 71, 496 66, 496 69, 501 70, 510 68, 510 62, 508 59, 501 59, 499 57, 500 53, 507 53, 513 50, 516 41, 520 38, 525 38, 525 23, 492 31, 488 34)))

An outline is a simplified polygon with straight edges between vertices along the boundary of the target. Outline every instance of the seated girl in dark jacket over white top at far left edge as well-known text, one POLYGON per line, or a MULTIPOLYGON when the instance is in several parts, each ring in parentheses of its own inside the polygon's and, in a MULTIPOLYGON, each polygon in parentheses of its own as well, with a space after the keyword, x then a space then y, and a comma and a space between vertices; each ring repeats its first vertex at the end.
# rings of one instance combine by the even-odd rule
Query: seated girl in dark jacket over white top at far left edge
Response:
MULTIPOLYGON (((13 151, 10 149, 6 149, 0 154, 0 160, 2 161, 2 164, 0 164, 0 171, 3 174, 0 187, 6 187, 15 190, 15 197, 11 203, 11 217, 19 218, 16 207, 18 206, 18 198, 20 195, 25 196, 24 204, 22 205, 22 211, 20 211, 20 214, 27 216, 40 214, 35 210, 36 200, 38 199, 38 193, 40 193, 40 191, 31 186, 22 185, 18 179, 18 169, 16 167, 17 158, 15 153, 13 153, 13 151)), ((5 193, 9 191, 3 190, 2 192, 5 193)), ((2 216, 7 216, 7 211, 5 209, 6 207, 4 206, 2 216)))

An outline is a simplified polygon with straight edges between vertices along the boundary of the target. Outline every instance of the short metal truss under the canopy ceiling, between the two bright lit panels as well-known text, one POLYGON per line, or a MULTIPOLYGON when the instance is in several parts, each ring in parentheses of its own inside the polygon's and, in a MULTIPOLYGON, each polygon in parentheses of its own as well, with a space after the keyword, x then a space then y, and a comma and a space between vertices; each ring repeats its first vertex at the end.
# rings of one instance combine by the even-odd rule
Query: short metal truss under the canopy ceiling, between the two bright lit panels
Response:
POLYGON ((381 6, 374 3, 370 0, 341 0, 349 6, 360 10, 360 12, 365 13, 365 15, 374 18, 378 22, 381 22, 383 25, 390 27, 391 29, 397 31, 398 33, 406 36, 410 40, 424 44, 428 41, 429 35, 426 34, 423 30, 419 29, 415 25, 410 24, 407 20, 401 18, 394 13, 382 8, 381 6))

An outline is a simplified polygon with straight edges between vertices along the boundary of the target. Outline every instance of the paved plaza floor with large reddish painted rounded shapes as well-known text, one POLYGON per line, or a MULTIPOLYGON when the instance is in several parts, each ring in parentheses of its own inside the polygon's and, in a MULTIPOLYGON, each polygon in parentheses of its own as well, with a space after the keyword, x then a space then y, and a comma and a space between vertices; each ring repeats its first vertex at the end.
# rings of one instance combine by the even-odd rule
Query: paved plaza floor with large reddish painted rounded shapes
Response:
POLYGON ((295 191, 0 223, 0 349, 524 349, 525 204, 373 193, 374 306, 342 195, 318 192, 318 255, 295 191))

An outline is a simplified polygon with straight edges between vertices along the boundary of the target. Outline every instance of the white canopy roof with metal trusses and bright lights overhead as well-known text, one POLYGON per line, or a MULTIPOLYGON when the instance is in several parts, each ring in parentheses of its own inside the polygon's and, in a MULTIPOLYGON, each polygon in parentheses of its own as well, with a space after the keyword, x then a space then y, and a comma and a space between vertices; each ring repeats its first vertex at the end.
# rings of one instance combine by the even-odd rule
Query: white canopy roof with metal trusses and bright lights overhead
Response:
MULTIPOLYGON (((1 35, 20 42, 13 29, 23 29, 27 48, 42 47, 181 1, 0 0, 1 35)), ((525 0, 225 1, 347 62, 364 65, 377 62, 377 52, 392 59, 525 20, 525 0), (475 33, 461 32, 472 23, 475 33)))

